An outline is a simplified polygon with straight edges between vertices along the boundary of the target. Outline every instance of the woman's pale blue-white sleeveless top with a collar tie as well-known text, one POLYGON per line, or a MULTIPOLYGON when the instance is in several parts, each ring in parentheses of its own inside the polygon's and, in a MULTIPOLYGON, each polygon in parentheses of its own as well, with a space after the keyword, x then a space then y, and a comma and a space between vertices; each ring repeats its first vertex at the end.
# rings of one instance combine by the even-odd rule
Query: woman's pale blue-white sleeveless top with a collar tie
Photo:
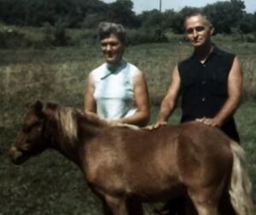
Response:
POLYGON ((136 113, 133 90, 134 76, 138 72, 140 71, 135 65, 125 61, 121 61, 115 67, 104 63, 91 71, 98 116, 107 120, 117 120, 136 113))

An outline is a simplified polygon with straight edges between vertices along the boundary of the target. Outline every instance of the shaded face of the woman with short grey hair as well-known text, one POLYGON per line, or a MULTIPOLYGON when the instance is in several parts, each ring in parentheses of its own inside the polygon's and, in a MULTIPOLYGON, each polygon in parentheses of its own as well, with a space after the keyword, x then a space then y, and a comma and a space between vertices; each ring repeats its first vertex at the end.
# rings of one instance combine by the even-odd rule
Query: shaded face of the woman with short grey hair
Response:
POLYGON ((101 47, 102 54, 109 64, 116 64, 122 59, 124 45, 117 35, 111 34, 109 37, 102 39, 101 47))

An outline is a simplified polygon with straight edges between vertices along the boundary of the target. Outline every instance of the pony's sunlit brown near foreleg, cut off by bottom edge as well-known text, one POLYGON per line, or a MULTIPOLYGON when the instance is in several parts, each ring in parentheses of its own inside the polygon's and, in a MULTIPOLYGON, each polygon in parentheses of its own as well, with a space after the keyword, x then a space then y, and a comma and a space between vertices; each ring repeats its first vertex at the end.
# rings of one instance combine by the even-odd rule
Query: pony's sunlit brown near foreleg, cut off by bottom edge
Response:
POLYGON ((107 195, 105 200, 113 215, 129 215, 125 198, 107 195))

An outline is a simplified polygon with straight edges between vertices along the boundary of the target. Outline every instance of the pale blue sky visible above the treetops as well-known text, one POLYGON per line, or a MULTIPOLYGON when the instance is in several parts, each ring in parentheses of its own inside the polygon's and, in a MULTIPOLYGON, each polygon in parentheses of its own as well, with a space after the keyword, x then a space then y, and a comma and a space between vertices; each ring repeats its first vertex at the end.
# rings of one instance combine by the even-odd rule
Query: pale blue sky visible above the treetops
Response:
MULTIPOLYGON (((225 2, 227 0, 161 0, 162 11, 166 9, 174 9, 179 11, 185 6, 201 8, 208 3, 225 2)), ((113 3, 115 0, 102 0, 105 3, 113 3)), ((140 14, 142 11, 151 10, 154 8, 160 8, 160 0, 132 0, 133 10, 136 14, 140 14)), ((247 13, 256 12, 256 0, 244 0, 247 13)))

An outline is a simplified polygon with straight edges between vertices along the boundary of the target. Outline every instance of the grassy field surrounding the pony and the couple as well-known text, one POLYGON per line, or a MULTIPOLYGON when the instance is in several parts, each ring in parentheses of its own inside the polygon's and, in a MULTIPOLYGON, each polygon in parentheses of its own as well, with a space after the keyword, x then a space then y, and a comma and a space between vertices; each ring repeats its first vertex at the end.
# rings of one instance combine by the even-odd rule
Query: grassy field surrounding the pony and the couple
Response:
MULTIPOLYGON (((247 152, 249 173, 256 201, 256 44, 216 42, 239 55, 244 71, 244 100, 236 112, 241 144, 247 152)), ((155 121, 160 99, 171 82, 178 59, 191 52, 188 44, 143 44, 126 49, 125 59, 137 65, 148 80, 155 121)), ((103 62, 98 48, 55 48, 47 50, 0 50, 0 215, 101 214, 99 201, 88 189, 84 176, 55 151, 15 166, 7 157, 26 107, 36 99, 55 100, 83 108, 85 78, 103 62)), ((178 123, 180 110, 171 117, 178 123)), ((145 207, 150 214, 151 207, 145 207)))

